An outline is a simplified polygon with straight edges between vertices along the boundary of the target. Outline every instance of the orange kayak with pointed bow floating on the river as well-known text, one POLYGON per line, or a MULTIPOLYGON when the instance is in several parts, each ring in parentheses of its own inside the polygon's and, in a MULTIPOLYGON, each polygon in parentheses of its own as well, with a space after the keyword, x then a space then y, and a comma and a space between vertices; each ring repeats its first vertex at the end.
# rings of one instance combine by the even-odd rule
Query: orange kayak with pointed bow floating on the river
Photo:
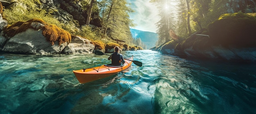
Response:
POLYGON ((74 75, 80 83, 87 83, 90 81, 95 81, 98 79, 103 79, 112 75, 117 74, 118 72, 124 71, 129 68, 132 64, 133 57, 125 59, 123 66, 108 66, 102 65, 93 68, 73 70, 74 75))

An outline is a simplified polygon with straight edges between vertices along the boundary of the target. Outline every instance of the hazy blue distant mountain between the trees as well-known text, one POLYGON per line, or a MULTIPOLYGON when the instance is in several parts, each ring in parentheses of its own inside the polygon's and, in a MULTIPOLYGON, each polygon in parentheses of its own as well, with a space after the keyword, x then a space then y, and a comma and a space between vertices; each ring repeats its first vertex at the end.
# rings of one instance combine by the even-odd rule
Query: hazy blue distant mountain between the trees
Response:
POLYGON ((157 33, 139 31, 136 29, 130 29, 130 31, 134 39, 137 39, 137 38, 141 39, 141 42, 147 46, 146 49, 155 47, 155 43, 157 42, 157 39, 158 39, 157 33))

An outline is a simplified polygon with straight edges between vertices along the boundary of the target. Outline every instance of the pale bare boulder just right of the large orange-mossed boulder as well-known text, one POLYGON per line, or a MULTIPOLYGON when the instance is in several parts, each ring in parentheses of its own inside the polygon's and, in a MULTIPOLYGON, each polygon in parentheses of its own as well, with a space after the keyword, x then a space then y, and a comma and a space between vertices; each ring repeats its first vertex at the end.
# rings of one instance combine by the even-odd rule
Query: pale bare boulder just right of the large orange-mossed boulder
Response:
POLYGON ((72 36, 70 44, 61 52, 66 54, 84 54, 92 53, 94 50, 94 45, 90 43, 91 41, 79 36, 72 36))

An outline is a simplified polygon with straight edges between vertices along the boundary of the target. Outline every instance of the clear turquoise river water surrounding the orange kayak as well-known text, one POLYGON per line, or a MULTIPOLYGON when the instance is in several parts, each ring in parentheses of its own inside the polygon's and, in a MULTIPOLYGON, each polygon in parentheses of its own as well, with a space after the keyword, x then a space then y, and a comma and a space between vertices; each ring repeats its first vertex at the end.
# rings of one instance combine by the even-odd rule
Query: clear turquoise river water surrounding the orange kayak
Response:
POLYGON ((106 55, 0 53, 0 114, 253 114, 256 64, 123 51, 143 63, 90 83, 72 70, 106 55))

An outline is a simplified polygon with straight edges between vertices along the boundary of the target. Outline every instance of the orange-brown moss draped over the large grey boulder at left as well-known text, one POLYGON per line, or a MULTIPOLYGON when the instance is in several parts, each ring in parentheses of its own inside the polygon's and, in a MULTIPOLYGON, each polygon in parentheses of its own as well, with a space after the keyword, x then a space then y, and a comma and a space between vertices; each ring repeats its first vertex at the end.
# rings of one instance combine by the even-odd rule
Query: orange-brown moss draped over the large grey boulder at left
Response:
POLYGON ((31 26, 32 22, 39 22, 44 25, 43 28, 41 28, 43 31, 42 33, 46 37, 47 41, 49 41, 52 45, 54 45, 54 42, 56 41, 58 41, 59 45, 65 42, 71 42, 70 33, 65 31, 64 29, 59 28, 56 25, 48 24, 45 21, 37 18, 28 20, 27 22, 19 21, 15 24, 5 26, 3 31, 7 36, 13 37, 14 35, 24 32, 27 29, 34 29, 31 26))

